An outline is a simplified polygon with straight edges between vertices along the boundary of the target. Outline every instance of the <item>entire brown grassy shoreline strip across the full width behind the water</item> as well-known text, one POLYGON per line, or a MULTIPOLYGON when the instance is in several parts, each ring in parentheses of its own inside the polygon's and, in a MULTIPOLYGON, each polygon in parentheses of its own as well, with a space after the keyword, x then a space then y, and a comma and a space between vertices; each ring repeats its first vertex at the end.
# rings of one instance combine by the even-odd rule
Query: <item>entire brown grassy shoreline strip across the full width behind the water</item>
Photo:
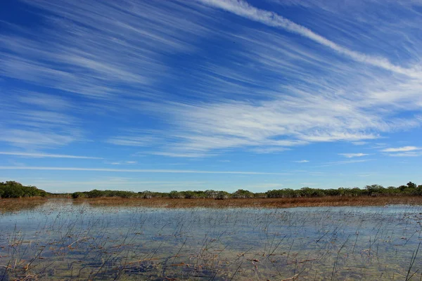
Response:
POLYGON ((72 204, 89 204, 91 207, 146 207, 146 208, 254 208, 254 209, 285 209, 295 207, 382 207, 388 205, 421 205, 422 196, 381 196, 381 197, 295 197, 295 198, 229 198, 215 200, 212 198, 121 198, 98 197, 31 197, 0 199, 0 213, 34 209, 49 201, 65 200, 72 204))

